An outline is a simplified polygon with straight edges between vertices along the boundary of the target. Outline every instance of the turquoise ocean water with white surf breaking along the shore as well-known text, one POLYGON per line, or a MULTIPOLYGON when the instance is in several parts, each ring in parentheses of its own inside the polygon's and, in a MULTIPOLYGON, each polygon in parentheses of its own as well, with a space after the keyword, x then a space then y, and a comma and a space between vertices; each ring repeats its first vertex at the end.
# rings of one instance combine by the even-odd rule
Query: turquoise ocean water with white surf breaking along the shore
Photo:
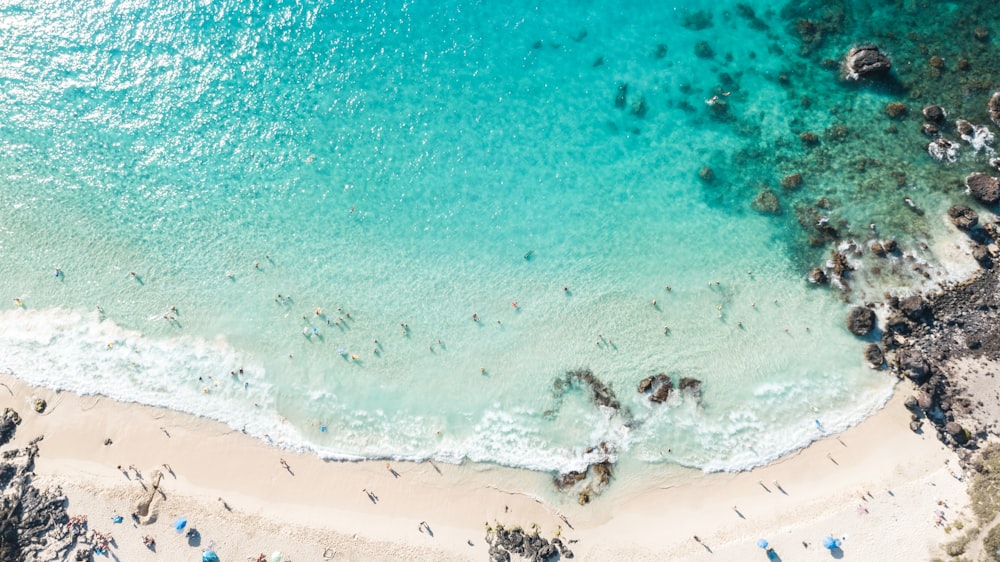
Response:
POLYGON ((935 178, 979 156, 780 6, 648 4, 0 3, 0 368, 329 458, 740 470, 856 423, 892 380, 848 307, 946 277, 935 178), (808 209, 904 255, 811 286, 808 209))

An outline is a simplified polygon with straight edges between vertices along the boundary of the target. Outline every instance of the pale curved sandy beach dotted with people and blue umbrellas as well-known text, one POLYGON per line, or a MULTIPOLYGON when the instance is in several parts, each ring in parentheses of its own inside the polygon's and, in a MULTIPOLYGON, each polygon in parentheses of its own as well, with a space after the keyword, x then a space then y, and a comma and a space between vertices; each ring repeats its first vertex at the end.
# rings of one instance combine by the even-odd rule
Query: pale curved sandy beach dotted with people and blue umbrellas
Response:
POLYGON ((769 466, 692 472, 680 483, 651 470, 638 489, 616 493, 612 483, 587 506, 572 497, 558 505, 540 500, 551 486, 547 475, 324 462, 206 419, 31 388, 8 376, 2 382, 13 392, 5 402, 24 417, 8 447, 44 435, 36 486, 61 487, 69 514, 112 533, 111 554, 120 560, 196 560, 209 546, 224 561, 275 551, 299 562, 487 560, 488 522, 537 524, 548 538, 558 532, 575 541, 568 546, 579 560, 663 560, 665 552, 672 560, 765 559, 760 538, 782 560, 824 560, 828 534, 842 538, 845 559, 927 560, 948 540, 935 511, 961 520, 968 503, 953 476, 961 474, 955 454, 907 428, 905 382, 860 425, 769 466), (43 415, 31 409, 35 397, 49 404, 43 415), (136 525, 130 514, 150 495, 144 487, 155 470, 164 473, 163 493, 154 494, 151 520, 136 525), (124 521, 114 523, 115 515, 124 521), (174 531, 178 517, 199 531, 197 539, 174 531), (156 539, 155 551, 142 544, 144 535, 156 539))

